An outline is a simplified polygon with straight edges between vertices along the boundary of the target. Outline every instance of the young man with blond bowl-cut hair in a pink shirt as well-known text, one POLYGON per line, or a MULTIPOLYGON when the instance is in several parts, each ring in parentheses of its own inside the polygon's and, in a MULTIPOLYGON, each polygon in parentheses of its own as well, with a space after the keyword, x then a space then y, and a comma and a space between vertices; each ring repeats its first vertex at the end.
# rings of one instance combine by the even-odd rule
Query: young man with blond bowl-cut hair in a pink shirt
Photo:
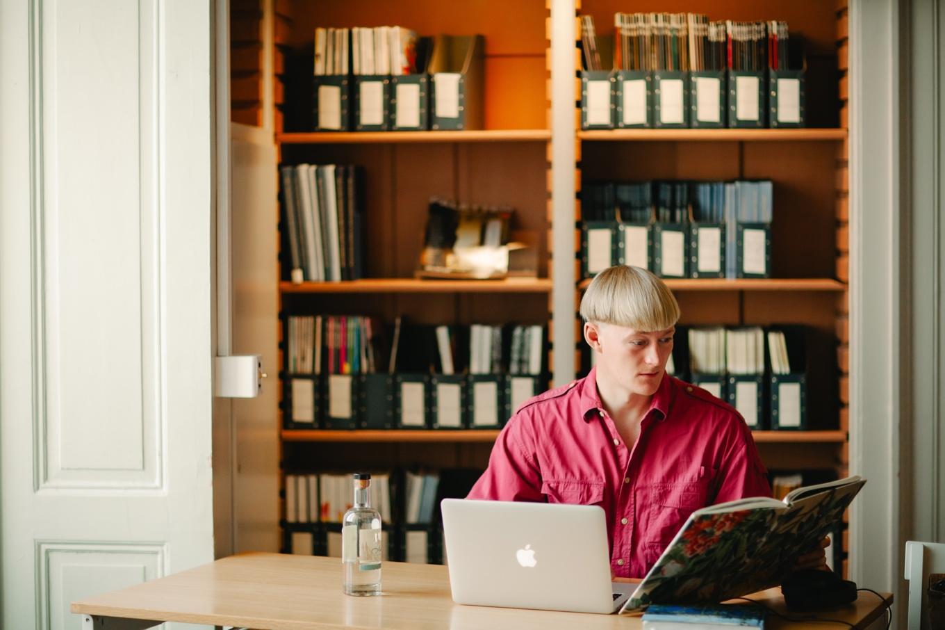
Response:
POLYGON ((612 573, 642 578, 697 509, 771 491, 738 411, 665 374, 679 304, 662 280, 611 267, 580 313, 595 367, 516 411, 468 498, 600 505, 612 573))

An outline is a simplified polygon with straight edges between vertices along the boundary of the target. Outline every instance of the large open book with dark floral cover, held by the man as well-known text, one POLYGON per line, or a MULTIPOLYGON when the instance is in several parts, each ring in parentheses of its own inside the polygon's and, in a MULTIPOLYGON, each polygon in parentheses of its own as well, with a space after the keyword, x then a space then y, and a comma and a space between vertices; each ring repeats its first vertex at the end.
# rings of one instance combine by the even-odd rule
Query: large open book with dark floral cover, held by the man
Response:
POLYGON ((781 584, 866 482, 854 475, 798 488, 783 501, 738 499, 696 510, 620 612, 723 602, 781 584))

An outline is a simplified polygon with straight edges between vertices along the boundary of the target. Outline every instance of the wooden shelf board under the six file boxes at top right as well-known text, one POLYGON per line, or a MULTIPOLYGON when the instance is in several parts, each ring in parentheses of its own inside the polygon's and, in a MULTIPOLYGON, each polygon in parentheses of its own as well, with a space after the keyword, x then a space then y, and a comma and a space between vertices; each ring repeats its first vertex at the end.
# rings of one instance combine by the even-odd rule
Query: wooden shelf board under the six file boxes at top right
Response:
POLYGON ((581 140, 686 142, 841 141, 845 129, 615 129, 577 131, 581 140))

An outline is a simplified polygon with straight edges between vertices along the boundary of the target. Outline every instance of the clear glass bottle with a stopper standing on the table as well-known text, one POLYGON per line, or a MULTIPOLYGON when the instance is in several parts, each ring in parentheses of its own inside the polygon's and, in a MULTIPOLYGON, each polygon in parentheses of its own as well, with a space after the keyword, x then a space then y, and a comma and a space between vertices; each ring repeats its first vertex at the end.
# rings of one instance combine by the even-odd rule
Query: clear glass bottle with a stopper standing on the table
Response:
POLYGON ((341 525, 346 595, 381 594, 381 515, 370 507, 370 474, 354 473, 354 507, 341 525))

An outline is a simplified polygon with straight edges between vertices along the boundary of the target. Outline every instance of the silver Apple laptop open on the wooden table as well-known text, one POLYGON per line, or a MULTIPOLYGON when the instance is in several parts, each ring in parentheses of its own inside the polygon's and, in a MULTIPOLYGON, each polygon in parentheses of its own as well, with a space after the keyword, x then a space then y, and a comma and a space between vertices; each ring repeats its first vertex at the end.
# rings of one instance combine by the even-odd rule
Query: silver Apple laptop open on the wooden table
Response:
POLYGON ((610 582, 596 505, 443 499, 456 604, 616 612, 634 584, 610 582))

